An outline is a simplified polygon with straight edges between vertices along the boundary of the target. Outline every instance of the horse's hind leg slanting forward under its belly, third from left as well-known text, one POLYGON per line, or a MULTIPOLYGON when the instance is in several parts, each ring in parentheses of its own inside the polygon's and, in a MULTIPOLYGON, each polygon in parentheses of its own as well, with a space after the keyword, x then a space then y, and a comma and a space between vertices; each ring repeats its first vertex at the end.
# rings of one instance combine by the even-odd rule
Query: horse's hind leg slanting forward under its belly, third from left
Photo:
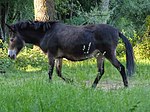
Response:
POLYGON ((98 74, 97 77, 95 78, 92 87, 95 88, 101 79, 102 75, 104 74, 104 56, 100 54, 97 57, 97 67, 98 67, 98 74))

